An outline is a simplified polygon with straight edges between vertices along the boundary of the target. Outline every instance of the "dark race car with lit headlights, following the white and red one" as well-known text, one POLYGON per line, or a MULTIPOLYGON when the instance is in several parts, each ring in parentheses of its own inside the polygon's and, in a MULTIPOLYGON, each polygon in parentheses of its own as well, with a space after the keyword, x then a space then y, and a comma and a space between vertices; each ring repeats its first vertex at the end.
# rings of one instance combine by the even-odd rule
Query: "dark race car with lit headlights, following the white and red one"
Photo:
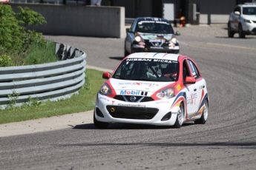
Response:
POLYGON ((179 53, 180 44, 171 22, 165 18, 136 18, 126 30, 125 56, 134 52, 179 53))

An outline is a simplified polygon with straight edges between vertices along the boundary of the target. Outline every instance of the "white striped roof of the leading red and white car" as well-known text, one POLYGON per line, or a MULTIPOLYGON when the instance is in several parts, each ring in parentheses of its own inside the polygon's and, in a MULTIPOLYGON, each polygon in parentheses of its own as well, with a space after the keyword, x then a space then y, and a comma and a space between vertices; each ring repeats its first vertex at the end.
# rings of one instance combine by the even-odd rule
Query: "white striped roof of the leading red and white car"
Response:
POLYGON ((127 58, 151 58, 151 59, 168 59, 178 61, 179 54, 165 53, 165 52, 136 52, 128 55, 127 58))

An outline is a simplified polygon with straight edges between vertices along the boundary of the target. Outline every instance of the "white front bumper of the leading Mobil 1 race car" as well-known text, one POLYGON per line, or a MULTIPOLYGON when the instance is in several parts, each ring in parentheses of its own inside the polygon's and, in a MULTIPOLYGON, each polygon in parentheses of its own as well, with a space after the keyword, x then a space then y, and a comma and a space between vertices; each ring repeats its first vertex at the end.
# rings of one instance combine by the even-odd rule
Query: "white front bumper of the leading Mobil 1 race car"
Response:
POLYGON ((171 107, 174 99, 142 103, 118 101, 105 95, 97 95, 96 120, 108 123, 137 123, 157 126, 174 125, 180 107, 171 107))

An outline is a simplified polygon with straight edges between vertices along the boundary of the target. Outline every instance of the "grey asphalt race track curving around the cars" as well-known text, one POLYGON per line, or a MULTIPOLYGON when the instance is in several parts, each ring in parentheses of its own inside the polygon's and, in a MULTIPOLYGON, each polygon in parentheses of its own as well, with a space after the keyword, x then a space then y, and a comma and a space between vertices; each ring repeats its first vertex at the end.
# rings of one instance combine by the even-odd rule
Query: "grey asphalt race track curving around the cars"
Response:
MULTIPOLYGON (((256 169, 256 36, 227 38, 226 25, 177 29, 183 55, 206 78, 209 119, 180 129, 92 123, 0 138, 0 169, 256 169)), ((124 39, 45 35, 114 69, 124 39)))

